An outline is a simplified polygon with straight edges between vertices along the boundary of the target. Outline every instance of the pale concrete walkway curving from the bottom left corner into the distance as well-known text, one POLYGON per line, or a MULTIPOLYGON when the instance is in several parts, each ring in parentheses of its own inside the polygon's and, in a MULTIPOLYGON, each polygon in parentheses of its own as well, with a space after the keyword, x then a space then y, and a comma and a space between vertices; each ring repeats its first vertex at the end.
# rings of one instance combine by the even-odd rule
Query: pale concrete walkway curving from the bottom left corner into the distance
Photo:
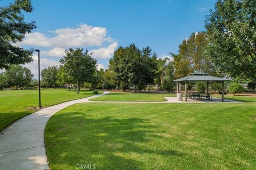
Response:
POLYGON ((43 108, 8 126, 0 134, 0 169, 49 169, 44 145, 44 129, 49 118, 65 107, 108 93, 43 108))

